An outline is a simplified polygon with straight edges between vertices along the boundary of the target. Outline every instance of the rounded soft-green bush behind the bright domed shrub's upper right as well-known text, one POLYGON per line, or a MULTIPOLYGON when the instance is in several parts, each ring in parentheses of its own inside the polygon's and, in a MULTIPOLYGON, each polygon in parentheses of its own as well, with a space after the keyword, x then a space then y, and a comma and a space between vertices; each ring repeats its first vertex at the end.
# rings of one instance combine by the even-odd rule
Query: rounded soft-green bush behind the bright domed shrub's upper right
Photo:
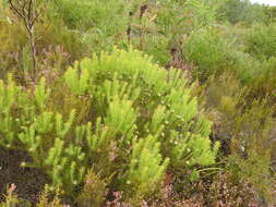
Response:
POLYGON ((195 31, 183 45, 184 58, 197 66, 192 74, 201 81, 221 74, 231 64, 229 50, 230 46, 215 28, 195 31))

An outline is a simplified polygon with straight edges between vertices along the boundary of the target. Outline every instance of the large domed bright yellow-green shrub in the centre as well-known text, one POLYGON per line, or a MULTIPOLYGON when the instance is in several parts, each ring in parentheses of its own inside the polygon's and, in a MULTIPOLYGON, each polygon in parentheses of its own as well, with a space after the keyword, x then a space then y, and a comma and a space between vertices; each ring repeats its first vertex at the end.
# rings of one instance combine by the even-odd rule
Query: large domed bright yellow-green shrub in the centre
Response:
POLYGON ((199 112, 179 71, 166 71, 137 50, 113 49, 76 63, 64 80, 75 95, 91 97, 97 117, 92 151, 104 151, 111 143, 124 151, 115 160, 121 161, 121 186, 129 195, 154 192, 149 186, 161 182, 168 166, 215 162, 219 144, 213 148, 208 138, 212 123, 199 112))

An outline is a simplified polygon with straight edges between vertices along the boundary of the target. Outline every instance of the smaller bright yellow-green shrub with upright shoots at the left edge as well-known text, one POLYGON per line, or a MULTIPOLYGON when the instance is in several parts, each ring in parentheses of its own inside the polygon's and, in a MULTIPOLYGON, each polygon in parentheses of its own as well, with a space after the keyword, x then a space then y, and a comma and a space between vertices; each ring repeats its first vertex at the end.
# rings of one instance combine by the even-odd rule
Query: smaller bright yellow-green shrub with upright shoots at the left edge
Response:
POLYGON ((73 125, 74 109, 68 118, 49 110, 51 92, 45 83, 41 78, 34 90, 27 90, 16 86, 11 75, 7 83, 0 82, 0 144, 27 151, 33 162, 22 162, 22 167, 40 168, 53 186, 71 191, 85 175, 86 168, 81 166, 85 155, 77 146, 83 133, 81 126, 73 125), (71 131, 75 132, 74 142, 69 141, 71 131))

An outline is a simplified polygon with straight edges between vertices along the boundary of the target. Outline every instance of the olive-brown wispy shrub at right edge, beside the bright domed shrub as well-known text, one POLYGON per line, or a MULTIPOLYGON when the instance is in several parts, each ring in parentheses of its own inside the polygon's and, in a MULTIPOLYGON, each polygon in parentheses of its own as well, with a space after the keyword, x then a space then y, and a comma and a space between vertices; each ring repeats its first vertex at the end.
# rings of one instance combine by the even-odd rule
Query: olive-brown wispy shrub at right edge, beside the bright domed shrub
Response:
POLYGON ((243 180, 257 196, 271 202, 274 196, 269 168, 275 106, 268 98, 252 99, 250 93, 237 77, 227 73, 207 83, 204 108, 214 122, 213 138, 221 142, 224 154, 229 156, 221 157, 229 167, 228 184, 243 180))

